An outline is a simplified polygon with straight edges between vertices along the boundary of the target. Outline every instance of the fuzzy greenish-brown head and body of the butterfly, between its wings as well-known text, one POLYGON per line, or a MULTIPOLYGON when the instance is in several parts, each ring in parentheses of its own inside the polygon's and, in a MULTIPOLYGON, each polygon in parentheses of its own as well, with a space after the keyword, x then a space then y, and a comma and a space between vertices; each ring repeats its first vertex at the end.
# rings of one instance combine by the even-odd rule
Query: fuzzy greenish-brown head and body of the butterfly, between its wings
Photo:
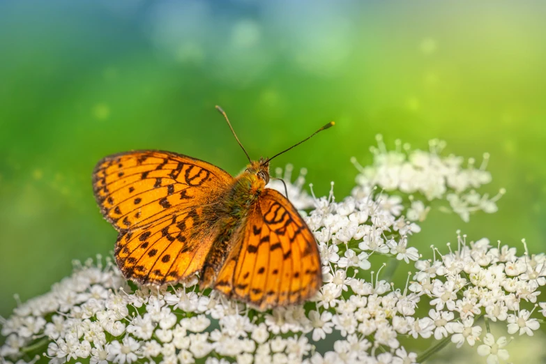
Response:
POLYGON ((248 215, 255 208, 269 181, 269 165, 262 158, 251 162, 246 169, 236 176, 234 183, 227 190, 218 211, 218 238, 208 253, 206 264, 202 269, 201 285, 208 287, 215 280, 220 268, 227 258, 226 252, 234 249, 230 243, 241 234, 241 227, 248 215))

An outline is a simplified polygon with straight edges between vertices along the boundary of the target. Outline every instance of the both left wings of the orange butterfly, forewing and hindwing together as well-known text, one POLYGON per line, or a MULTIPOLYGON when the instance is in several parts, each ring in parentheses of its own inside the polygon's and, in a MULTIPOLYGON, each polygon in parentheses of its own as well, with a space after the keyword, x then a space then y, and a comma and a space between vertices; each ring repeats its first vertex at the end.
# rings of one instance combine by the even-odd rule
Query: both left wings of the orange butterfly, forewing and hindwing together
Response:
POLYGON ((93 172, 100 211, 118 231, 116 262, 140 283, 181 280, 202 266, 215 237, 215 203, 233 177, 165 151, 108 156, 93 172))

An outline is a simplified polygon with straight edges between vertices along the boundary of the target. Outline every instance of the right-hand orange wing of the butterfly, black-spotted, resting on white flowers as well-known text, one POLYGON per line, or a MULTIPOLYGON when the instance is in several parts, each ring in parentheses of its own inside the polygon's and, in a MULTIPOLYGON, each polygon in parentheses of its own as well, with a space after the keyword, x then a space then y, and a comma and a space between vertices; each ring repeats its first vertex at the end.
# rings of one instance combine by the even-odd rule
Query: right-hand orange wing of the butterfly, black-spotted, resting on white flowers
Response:
POLYGON ((317 242, 296 208, 266 188, 215 288, 261 309, 303 303, 322 282, 317 242))

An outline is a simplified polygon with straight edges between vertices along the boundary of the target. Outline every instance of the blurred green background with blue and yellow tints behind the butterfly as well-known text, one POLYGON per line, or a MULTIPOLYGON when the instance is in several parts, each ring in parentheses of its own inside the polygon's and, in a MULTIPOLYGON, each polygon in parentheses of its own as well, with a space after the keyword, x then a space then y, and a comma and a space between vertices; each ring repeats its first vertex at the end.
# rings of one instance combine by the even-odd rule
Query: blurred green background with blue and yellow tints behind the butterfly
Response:
POLYGON ((338 198, 377 133, 490 152, 499 212, 432 213, 412 242, 462 229, 544 251, 545 14, 540 1, 0 1, 0 314, 113 249, 91 190, 103 156, 165 149, 238 173, 217 104, 254 158, 336 121, 273 167, 308 167, 338 198))

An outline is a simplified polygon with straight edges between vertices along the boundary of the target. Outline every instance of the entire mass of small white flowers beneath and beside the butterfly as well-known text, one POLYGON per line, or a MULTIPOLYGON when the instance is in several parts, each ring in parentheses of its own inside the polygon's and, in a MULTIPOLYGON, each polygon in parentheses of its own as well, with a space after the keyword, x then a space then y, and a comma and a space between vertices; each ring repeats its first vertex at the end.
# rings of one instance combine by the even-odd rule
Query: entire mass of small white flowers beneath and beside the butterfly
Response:
MULTIPOLYGON (((460 169, 453 162, 458 158, 442 158, 438 149, 411 152, 413 162, 404 162, 400 151, 382 145, 374 152, 374 167, 361 169, 360 184, 341 202, 335 202, 333 189, 328 197, 307 195, 303 175, 287 183, 296 206, 314 205, 302 213, 323 264, 324 285, 305 305, 258 312, 216 291, 199 291, 197 278, 176 287, 136 287, 111 259, 103 265, 99 258, 75 264, 70 278, 2 319, 0 357, 18 364, 36 361, 36 354, 51 364, 410 364, 452 341, 457 347, 482 342, 478 354, 489 364, 506 360, 508 340, 483 332, 489 321, 506 321, 510 334, 538 329, 531 317, 536 310, 523 306, 536 303, 538 287, 546 284, 545 255, 517 257, 515 248, 494 248, 486 239, 467 244, 460 236, 457 250, 441 255, 433 248, 433 259, 420 260, 408 240, 420 232, 417 222, 430 208, 407 195, 440 199, 450 188, 462 198, 490 177, 483 169, 460 169), (397 161, 380 162, 390 159, 397 161), (396 181, 386 185, 390 178, 396 181), (392 190, 400 193, 388 195, 392 190), (379 255, 392 261, 371 271, 379 255), (415 264, 416 273, 404 289, 395 289, 390 276, 401 261, 415 264), (430 304, 427 317, 418 317, 418 304, 430 304), (434 337, 439 346, 417 356, 400 344, 402 337, 434 337)), ((289 179, 291 167, 285 173, 289 179)), ((285 192, 280 182, 273 187, 285 192)), ((540 307, 545 314, 546 303, 540 307)))

